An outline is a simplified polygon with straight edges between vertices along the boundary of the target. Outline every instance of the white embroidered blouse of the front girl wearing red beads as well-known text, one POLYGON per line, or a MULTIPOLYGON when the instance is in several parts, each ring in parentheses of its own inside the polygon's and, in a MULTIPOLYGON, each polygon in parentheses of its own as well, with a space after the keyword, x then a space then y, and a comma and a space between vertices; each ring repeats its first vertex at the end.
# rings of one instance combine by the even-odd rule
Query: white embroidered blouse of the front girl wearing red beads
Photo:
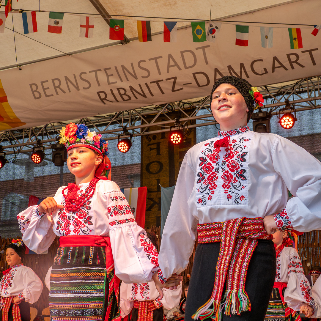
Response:
MULTIPOLYGON (((80 184, 83 193, 89 183, 80 184)), ((60 187, 54 199, 65 205, 60 187)), ((47 250, 57 236, 109 236, 116 275, 124 282, 148 282, 152 272, 159 269, 157 250, 137 225, 134 215, 118 185, 110 180, 99 180, 94 195, 77 213, 65 208, 48 215, 39 213, 38 206, 30 206, 17 215, 22 239, 36 253, 47 250)))

